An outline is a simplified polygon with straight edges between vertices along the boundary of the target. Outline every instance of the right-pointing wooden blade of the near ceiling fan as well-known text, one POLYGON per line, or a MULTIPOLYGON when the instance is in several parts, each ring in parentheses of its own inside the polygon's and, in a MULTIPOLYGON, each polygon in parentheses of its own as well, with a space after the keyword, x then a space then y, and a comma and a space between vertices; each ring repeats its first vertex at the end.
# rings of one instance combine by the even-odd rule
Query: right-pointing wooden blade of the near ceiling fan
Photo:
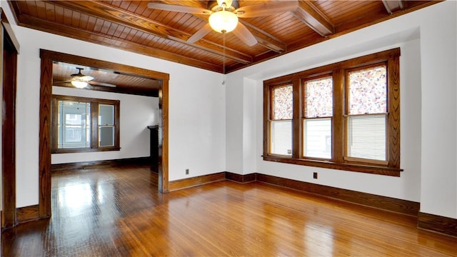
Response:
POLYGON ((263 4, 242 6, 236 9, 235 13, 239 18, 253 18, 295 11, 297 8, 298 1, 268 1, 263 4))

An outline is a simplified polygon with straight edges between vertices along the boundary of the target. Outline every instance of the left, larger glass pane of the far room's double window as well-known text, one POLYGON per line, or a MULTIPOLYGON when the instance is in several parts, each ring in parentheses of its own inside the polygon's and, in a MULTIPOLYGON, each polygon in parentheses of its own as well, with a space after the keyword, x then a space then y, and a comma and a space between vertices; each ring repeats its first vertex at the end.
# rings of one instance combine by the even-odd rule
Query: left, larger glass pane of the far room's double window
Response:
POLYGON ((58 148, 89 148, 91 104, 59 101, 58 105, 58 148))

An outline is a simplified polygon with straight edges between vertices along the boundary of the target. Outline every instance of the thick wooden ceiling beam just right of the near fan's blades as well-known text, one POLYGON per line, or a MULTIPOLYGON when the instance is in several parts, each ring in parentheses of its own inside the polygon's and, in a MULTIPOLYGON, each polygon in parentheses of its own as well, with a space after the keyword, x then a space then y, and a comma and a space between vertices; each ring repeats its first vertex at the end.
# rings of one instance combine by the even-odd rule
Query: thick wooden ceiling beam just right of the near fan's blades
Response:
POLYGON ((329 36, 335 31, 330 19, 311 1, 298 1, 298 8, 293 14, 321 36, 329 36))

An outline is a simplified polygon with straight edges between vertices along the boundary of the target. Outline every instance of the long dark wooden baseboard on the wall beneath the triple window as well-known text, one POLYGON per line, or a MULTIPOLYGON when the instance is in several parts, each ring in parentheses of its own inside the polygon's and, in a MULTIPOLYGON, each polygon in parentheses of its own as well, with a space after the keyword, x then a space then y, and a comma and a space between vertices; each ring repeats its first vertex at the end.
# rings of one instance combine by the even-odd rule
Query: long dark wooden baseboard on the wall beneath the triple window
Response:
POLYGON ((334 188, 331 186, 322 186, 318 184, 296 181, 288 178, 279 178, 276 176, 269 176, 260 173, 257 173, 257 181, 263 183, 270 183, 285 188, 291 188, 306 193, 313 193, 318 196, 325 196, 328 198, 333 198, 341 201, 358 203, 363 206, 380 208, 385 211, 403 213, 410 216, 417 216, 419 212, 419 203, 401 200, 397 198, 391 198, 387 196, 378 196, 373 195, 371 193, 362 193, 347 189, 334 188))

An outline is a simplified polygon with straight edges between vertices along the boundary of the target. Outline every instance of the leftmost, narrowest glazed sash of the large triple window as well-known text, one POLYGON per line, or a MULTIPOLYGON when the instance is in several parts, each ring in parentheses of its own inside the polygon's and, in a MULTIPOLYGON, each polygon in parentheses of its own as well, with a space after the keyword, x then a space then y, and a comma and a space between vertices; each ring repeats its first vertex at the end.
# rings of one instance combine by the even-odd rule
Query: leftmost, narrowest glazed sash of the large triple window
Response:
POLYGON ((292 154, 292 85, 271 88, 270 152, 291 156, 292 154))

